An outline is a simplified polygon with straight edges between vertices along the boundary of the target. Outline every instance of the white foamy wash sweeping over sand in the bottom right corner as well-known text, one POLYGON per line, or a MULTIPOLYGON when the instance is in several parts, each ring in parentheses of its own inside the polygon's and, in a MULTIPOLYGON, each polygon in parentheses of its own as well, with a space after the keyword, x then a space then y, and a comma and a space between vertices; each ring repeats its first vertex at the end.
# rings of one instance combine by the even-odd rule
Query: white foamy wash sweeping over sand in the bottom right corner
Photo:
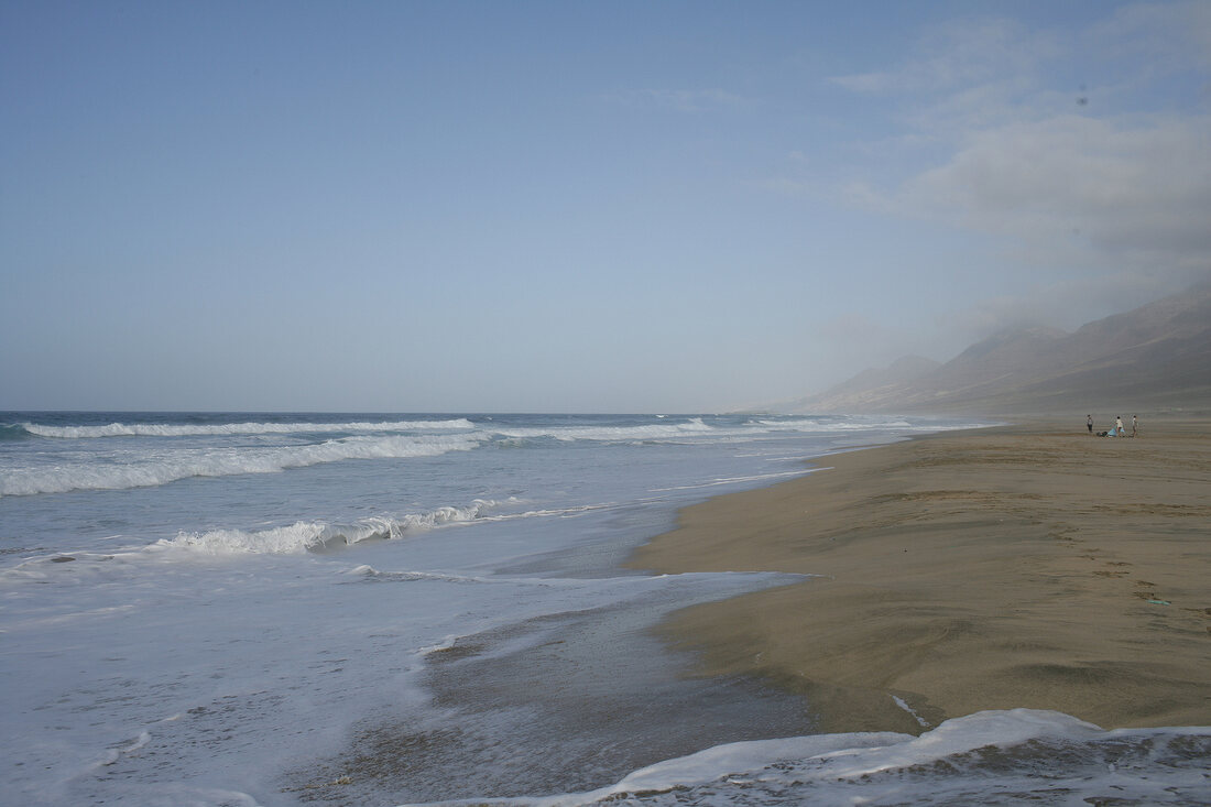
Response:
POLYGON ((678 803, 704 805, 775 799, 821 805, 885 803, 885 799, 891 803, 1017 803, 1026 794, 1031 801, 1048 803, 1086 805, 1100 795, 1113 795, 1123 803, 1206 803, 1211 774, 1196 749, 1182 748, 1189 738, 1211 738, 1211 727, 1107 732, 1055 711, 982 711, 946 721, 920 737, 854 733, 731 743, 659 762, 589 792, 437 803, 572 807, 670 803, 661 796, 671 795, 678 803), (1180 742, 1171 757, 1164 759, 1170 739, 1180 742), (991 749, 1003 755, 994 766, 985 762, 991 749), (1119 762, 1107 763, 1107 759, 1119 762), (1133 766, 1147 773, 1132 771, 1133 766))

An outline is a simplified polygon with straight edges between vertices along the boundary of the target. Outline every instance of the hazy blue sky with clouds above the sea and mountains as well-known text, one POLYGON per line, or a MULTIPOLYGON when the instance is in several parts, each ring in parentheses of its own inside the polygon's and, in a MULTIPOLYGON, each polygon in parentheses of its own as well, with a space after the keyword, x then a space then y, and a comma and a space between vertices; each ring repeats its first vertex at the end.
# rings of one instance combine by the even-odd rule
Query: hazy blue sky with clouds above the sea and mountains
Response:
POLYGON ((0 0, 0 408, 719 411, 1211 267, 1211 2, 0 0))

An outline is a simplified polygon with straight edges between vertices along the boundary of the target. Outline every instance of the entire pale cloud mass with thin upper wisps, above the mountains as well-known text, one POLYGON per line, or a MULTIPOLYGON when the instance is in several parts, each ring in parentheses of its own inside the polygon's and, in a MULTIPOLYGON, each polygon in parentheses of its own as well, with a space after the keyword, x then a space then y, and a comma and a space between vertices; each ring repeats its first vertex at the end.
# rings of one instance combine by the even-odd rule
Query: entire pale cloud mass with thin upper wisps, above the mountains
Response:
POLYGON ((901 176, 840 193, 998 236, 1035 267, 1189 280, 1211 268, 1211 114, 1190 91, 1206 91, 1209 53, 1206 2, 1127 6, 1062 36, 1001 19, 936 28, 895 70, 833 80, 894 93, 908 154, 901 176), (1049 84, 1078 70, 1107 80, 1049 84), (913 139, 929 143, 916 160, 913 139))

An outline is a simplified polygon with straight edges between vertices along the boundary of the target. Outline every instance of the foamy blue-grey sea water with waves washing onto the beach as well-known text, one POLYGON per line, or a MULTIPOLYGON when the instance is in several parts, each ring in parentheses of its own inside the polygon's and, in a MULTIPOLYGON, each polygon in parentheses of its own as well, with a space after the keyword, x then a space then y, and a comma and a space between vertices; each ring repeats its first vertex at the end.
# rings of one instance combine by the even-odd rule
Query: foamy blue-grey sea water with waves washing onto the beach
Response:
POLYGON ((625 570, 679 506, 966 425, 0 413, 0 801, 1207 803, 1211 729, 819 734, 653 637, 796 579, 625 570))

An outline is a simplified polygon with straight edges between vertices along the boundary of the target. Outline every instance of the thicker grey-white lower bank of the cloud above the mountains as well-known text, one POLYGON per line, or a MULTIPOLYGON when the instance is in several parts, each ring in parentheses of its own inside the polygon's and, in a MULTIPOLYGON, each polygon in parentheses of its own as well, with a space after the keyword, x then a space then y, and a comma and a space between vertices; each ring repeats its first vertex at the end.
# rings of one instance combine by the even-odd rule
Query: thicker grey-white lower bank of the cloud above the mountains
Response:
POLYGON ((988 128, 885 208, 1119 261, 1211 264, 1211 118, 1075 115, 988 128))

